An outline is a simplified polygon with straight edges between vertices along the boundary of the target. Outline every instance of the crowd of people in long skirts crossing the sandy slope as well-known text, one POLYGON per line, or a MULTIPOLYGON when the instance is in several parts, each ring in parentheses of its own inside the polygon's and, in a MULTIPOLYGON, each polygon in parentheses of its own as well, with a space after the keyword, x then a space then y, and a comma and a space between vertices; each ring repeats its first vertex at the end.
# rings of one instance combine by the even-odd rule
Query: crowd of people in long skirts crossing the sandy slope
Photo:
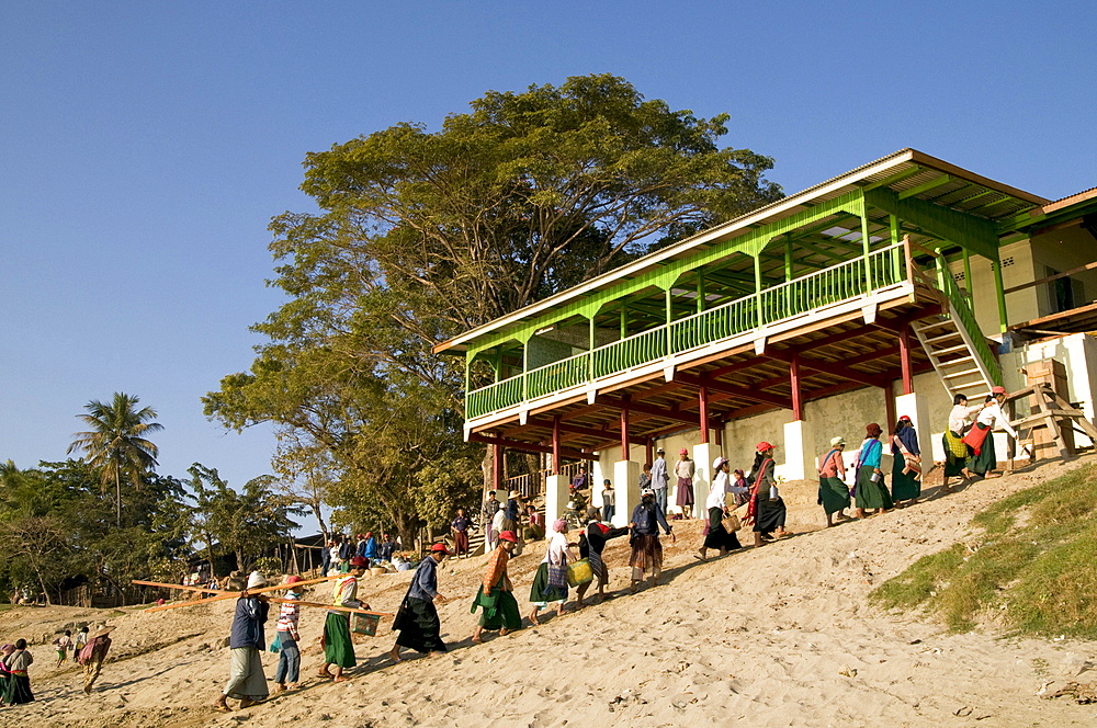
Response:
MULTIPOLYGON (((955 397, 942 442, 946 452, 945 492, 951 490, 949 478, 971 480, 993 474, 997 456, 991 431, 995 426, 1002 426, 1016 437, 1002 412, 1004 400, 1005 389, 1002 387, 995 387, 976 406, 969 406, 962 395, 955 397)), ((846 459, 845 439, 838 435, 830 440, 830 450, 818 460, 817 498, 828 527, 835 525, 836 520, 863 519, 894 508, 904 508, 918 502, 921 497, 921 448, 911 418, 898 418, 886 443, 882 440, 883 434, 883 429, 878 423, 869 423, 852 462, 846 459), (890 455, 885 453, 885 446, 890 455), (848 485, 850 476, 852 487, 848 485), (847 515, 847 509, 853 509, 852 516, 847 515)), ((756 548, 789 535, 785 530, 788 511, 776 476, 774 451, 771 443, 759 442, 747 473, 742 469, 733 470, 728 460, 722 456, 715 458, 704 503, 706 524, 703 539, 695 553, 698 559, 708 560, 710 550, 725 555, 740 548, 738 532, 744 525, 750 526, 756 548), (738 510, 743 507, 746 507, 746 511, 740 517, 738 510)), ((547 536, 544 555, 530 584, 529 602, 532 606, 525 615, 531 625, 540 624, 541 611, 550 605, 557 615, 564 614, 573 588, 579 607, 585 605, 591 584, 597 587, 599 600, 608 598, 604 590, 609 583, 609 569, 602 551, 612 538, 629 536, 630 591, 638 591, 647 579, 651 579, 653 587, 658 585, 663 570, 660 532, 671 542, 676 541, 676 535, 666 509, 671 470, 667 466, 664 450, 659 448, 656 454, 654 462, 644 467, 641 476, 641 502, 633 509, 627 525, 613 527, 610 523, 614 515, 615 498, 613 486, 607 479, 602 484, 601 509, 586 509, 586 522, 577 528, 578 538, 575 542, 568 539, 572 526, 567 519, 556 519, 546 531, 541 525, 536 508, 524 502, 518 491, 509 491, 506 502, 500 502, 495 491, 488 493, 480 512, 488 559, 479 589, 472 602, 472 612, 478 610, 480 613, 472 635, 473 644, 483 641, 485 630, 498 632, 505 636, 522 627, 523 616, 508 572, 509 562, 521 553, 524 544, 543 536, 547 536), (525 527, 520 528, 523 522, 525 527), (578 550, 578 558, 573 549, 578 550)), ((695 503, 695 464, 686 448, 679 453, 672 471, 677 478, 676 505, 683 517, 690 517, 695 503)), ((573 505, 586 502, 581 493, 587 487, 588 476, 586 470, 580 469, 572 482, 573 505)), ((470 556, 468 532, 474 527, 474 522, 462 508, 457 509, 450 526, 454 549, 451 551, 445 544, 436 543, 428 555, 414 566, 415 575, 393 622, 397 637, 387 652, 393 661, 402 659, 402 650, 405 648, 422 653, 446 651, 436 608, 436 603, 445 602, 446 598, 439 591, 437 567, 448 556, 470 556)), ((389 534, 382 534, 380 542, 372 533, 360 534, 357 543, 335 536, 327 544, 323 569, 325 575, 335 577, 335 580, 324 623, 324 663, 318 670, 319 676, 342 682, 347 680, 344 672, 357 666, 352 632, 358 629, 352 629, 352 616, 354 613, 369 613, 370 610, 369 604, 358 599, 359 580, 371 562, 395 558, 396 548, 396 541, 389 534)), ((270 613, 270 589, 286 590, 285 599, 274 600, 281 604, 275 639, 270 646, 272 651, 279 652, 274 690, 282 692, 299 686, 298 602, 303 595, 303 590, 296 585, 299 582, 302 577, 291 576, 284 584, 268 587, 261 573, 250 575, 247 588, 237 599, 233 616, 229 636, 230 675, 215 702, 217 710, 229 710, 229 698, 238 699, 241 707, 247 707, 269 696, 261 653, 268 649, 264 624, 270 613)), ((66 632, 54 644, 58 667, 68 659, 70 650, 83 666, 86 693, 91 692, 106 658, 111 629, 103 627, 90 632, 84 627, 75 638, 70 632, 66 632)), ((3 646, 0 653, 0 703, 18 704, 34 699, 27 675, 27 668, 33 661, 25 640, 3 646)))

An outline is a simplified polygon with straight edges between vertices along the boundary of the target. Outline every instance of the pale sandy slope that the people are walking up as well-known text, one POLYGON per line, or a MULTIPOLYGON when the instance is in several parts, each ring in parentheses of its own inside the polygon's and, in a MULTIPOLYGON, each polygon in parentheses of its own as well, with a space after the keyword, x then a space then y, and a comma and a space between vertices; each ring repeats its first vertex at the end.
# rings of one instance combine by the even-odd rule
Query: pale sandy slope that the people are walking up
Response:
MULTIPOLYGON (((814 484, 788 484, 798 535, 701 564, 700 524, 677 526, 665 584, 629 595, 625 539, 607 549, 614 599, 507 637, 470 641, 468 612, 483 557, 440 568, 444 657, 393 664, 383 636, 362 638, 353 680, 315 676, 323 612, 302 618, 302 691, 228 715, 210 705, 228 672, 231 602, 158 614, 71 607, 2 613, 4 641, 53 639, 68 623, 108 618, 115 646, 95 692, 79 669, 53 667, 33 648, 37 701, 0 709, 0 726, 1094 726, 1097 706, 1041 699, 1050 681, 1073 678, 1097 644, 1004 638, 993 624, 948 634, 919 613, 886 613, 867 595, 918 557, 977 538, 971 515, 1020 488, 1097 456, 1051 463, 984 481, 905 510, 819 530, 814 484)), ((740 533, 745 542, 748 533, 740 533)), ((543 542, 512 561, 523 611, 543 542)), ((374 608, 395 611, 409 575, 372 577, 374 608)), ((317 594, 313 594, 317 596, 317 594)), ((570 602, 574 606, 574 601, 570 602)), ((270 630, 273 623, 269 624, 270 630)), ((406 653, 411 657, 410 653, 406 653)), ((276 656, 267 655, 268 678, 276 656)))

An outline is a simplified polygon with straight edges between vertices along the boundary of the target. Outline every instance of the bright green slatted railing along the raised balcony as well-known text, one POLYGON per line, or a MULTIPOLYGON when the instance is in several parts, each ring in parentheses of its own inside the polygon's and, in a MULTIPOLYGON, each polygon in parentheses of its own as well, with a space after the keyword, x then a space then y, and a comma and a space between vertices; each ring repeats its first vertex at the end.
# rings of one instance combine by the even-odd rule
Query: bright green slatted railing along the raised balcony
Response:
MULTIPOLYGON (((949 276, 945 277, 951 282, 949 276)), ((801 316, 906 280, 903 243, 889 246, 870 253, 868 264, 864 258, 856 258, 475 389, 466 396, 465 414, 472 419, 513 407, 524 400, 627 372, 671 354, 746 333, 760 326, 801 316)), ((954 283, 952 285, 955 286, 954 283)), ((952 296, 951 293, 949 295, 952 296)), ((962 296, 958 297, 962 299, 962 296)), ((979 328, 974 330, 977 332, 979 328)), ((976 338, 982 342, 981 334, 976 338)), ((985 342, 983 345, 985 348, 985 342)))

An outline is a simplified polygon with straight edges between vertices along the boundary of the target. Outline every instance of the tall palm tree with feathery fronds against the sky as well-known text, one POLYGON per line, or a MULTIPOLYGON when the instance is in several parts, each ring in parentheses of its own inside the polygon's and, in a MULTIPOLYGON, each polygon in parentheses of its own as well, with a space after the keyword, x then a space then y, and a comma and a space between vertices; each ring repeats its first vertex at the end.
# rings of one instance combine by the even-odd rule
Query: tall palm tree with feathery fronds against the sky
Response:
POLYGON ((99 482, 105 491, 114 481, 114 498, 118 527, 122 527, 122 478, 125 477, 134 489, 140 489, 143 475, 156 467, 157 446, 145 436, 149 432, 162 430, 154 422, 156 410, 151 407, 137 409, 137 397, 121 391, 114 393, 110 405, 91 400, 84 405, 87 414, 78 414, 88 432, 73 433, 75 441, 68 452, 80 450, 84 460, 99 469, 99 482))

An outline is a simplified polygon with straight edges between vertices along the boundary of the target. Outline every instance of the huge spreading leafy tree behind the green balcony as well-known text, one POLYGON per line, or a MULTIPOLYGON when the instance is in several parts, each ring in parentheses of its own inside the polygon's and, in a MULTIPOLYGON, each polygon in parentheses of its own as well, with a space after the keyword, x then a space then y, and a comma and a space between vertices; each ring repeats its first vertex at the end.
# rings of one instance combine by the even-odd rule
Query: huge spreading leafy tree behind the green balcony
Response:
POLYGON ((727 118, 584 76, 309 153, 302 189, 320 212, 271 224, 290 300, 206 413, 328 451, 342 519, 437 520, 478 468, 461 368, 430 348, 778 198, 769 158, 720 147, 727 118))

